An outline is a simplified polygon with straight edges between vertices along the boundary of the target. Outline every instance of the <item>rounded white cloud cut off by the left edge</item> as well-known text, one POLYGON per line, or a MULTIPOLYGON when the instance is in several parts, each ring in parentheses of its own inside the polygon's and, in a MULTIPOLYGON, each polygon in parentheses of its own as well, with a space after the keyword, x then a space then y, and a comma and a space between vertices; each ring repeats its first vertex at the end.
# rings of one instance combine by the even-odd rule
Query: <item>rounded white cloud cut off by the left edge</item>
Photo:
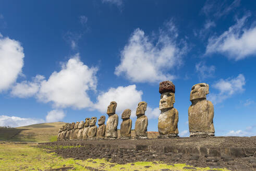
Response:
POLYGON ((0 92, 9 89, 16 81, 22 71, 24 56, 18 41, 0 36, 0 92))

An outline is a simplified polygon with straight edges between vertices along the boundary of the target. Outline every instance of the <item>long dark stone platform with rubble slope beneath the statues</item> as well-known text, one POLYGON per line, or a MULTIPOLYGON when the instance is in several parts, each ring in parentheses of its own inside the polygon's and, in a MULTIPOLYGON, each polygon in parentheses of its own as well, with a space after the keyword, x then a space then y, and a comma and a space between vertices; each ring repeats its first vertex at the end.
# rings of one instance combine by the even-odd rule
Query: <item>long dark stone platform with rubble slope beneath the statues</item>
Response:
POLYGON ((42 148, 55 145, 79 145, 72 150, 53 149, 64 157, 81 160, 107 158, 118 164, 163 161, 199 167, 256 170, 256 137, 74 140, 40 143, 42 148))

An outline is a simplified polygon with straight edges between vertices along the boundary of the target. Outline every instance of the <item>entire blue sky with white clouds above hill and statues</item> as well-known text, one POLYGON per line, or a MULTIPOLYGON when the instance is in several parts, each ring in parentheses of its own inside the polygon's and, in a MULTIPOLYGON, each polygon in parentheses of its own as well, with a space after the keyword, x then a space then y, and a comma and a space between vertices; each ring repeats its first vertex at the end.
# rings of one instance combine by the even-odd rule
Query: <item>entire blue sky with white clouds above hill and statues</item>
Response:
MULTIPOLYGON (((216 136, 256 135, 255 1, 1 1, 0 126, 80 121, 176 86, 180 136, 191 87, 208 83, 216 136)), ((119 117, 119 125, 121 119, 119 117)))

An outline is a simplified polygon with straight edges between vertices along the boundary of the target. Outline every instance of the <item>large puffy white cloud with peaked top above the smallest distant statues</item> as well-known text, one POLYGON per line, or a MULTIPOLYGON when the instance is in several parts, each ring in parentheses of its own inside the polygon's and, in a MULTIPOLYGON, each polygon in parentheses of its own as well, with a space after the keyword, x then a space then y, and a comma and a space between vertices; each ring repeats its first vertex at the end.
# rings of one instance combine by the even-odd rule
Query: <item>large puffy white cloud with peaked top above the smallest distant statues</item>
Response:
POLYGON ((62 65, 62 70, 41 82, 36 96, 42 102, 53 102, 55 107, 90 107, 87 91, 96 89, 96 72, 97 68, 84 65, 76 54, 62 65))

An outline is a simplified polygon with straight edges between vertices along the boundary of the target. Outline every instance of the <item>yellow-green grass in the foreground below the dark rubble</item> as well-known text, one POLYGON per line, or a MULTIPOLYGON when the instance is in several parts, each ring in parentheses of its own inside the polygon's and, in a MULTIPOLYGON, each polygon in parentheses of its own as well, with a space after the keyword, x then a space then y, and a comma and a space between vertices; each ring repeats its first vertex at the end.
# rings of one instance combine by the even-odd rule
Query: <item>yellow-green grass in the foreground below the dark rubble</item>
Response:
MULTIPOLYGON (((72 148, 72 146, 63 146, 72 148)), ((166 165, 161 162, 136 162, 119 165, 107 162, 105 159, 74 160, 74 158, 63 158, 55 153, 47 153, 47 150, 36 148, 27 144, 0 144, 0 170, 46 170, 70 167, 69 170, 87 170, 86 166, 104 170, 160 170, 168 168, 170 170, 184 170, 185 164, 166 165), (151 166, 145 168, 144 166, 151 166)), ((198 168, 197 170, 208 170, 198 168)), ((228 171, 227 169, 216 169, 228 171)))

